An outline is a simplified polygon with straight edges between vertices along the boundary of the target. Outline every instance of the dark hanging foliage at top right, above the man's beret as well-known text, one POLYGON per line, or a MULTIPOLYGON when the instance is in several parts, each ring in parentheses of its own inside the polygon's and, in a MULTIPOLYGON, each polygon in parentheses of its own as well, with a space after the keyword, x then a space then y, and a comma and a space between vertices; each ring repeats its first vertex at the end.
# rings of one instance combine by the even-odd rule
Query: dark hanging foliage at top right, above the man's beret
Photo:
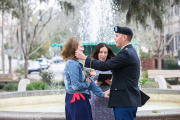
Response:
POLYGON ((163 31, 163 14, 167 7, 179 4, 180 0, 114 0, 118 5, 118 11, 126 12, 126 23, 132 21, 146 29, 149 26, 147 18, 150 17, 154 27, 163 31))

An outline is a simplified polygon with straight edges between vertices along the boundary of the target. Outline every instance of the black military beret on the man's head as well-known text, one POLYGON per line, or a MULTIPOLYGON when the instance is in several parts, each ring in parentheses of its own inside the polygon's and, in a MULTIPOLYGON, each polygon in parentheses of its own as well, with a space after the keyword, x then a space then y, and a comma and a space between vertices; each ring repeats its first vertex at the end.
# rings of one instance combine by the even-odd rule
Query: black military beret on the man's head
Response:
POLYGON ((128 27, 120 27, 120 26, 115 26, 114 27, 114 32, 115 33, 121 33, 124 35, 128 35, 130 37, 133 37, 133 32, 130 28, 128 27))

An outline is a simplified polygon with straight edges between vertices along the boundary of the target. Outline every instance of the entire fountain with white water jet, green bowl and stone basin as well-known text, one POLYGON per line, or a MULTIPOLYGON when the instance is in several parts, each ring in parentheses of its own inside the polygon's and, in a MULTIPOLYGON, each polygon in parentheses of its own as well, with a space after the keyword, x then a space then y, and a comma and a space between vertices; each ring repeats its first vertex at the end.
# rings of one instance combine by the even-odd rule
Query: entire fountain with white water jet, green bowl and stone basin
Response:
MULTIPOLYGON (((93 50, 93 46, 99 42, 108 41, 107 44, 115 47, 113 42, 113 27, 115 26, 115 21, 113 20, 115 17, 115 12, 112 8, 116 9, 116 6, 113 5, 112 0, 87 0, 82 7, 82 11, 80 11, 81 20, 79 22, 78 32, 79 37, 83 40, 84 46, 87 46, 87 51, 93 50)), ((135 43, 136 42, 132 44, 135 43)), ((51 45, 52 48, 62 46, 63 44, 51 45)), ((138 48, 136 50, 138 53, 138 48)), ((57 48, 55 51, 57 52, 56 54, 59 54, 58 52, 60 49, 57 48)), ((115 53, 117 53, 117 51, 115 51, 115 53)), ((89 55, 89 53, 86 54, 89 55)), ((161 120, 163 118, 166 118, 166 120, 177 120, 180 118, 180 90, 142 89, 142 91, 147 93, 151 98, 145 106, 139 108, 136 120, 161 120), (161 106, 162 108, 160 108, 159 104, 160 106, 161 104, 164 104, 164 107, 161 106), (155 107, 152 108, 152 106, 155 107), (155 111, 152 112, 152 110, 155 111)), ((1 93, 0 119, 65 120, 64 98, 64 90, 1 93), (17 110, 18 106, 20 110, 17 110), (29 108, 29 111, 22 106, 29 108), (37 106, 39 108, 38 110, 33 109, 37 106), (14 111, 12 111, 13 109, 14 111)))

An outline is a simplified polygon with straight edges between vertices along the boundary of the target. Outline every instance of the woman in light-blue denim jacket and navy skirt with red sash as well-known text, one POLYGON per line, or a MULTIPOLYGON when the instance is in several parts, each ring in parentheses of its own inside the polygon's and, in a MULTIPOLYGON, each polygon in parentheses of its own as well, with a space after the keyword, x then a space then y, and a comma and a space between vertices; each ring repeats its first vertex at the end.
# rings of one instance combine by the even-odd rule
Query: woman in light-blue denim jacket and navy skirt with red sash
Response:
POLYGON ((68 39, 62 49, 62 57, 67 61, 64 68, 66 90, 66 120, 93 120, 89 103, 90 90, 99 97, 109 97, 102 92, 92 78, 85 78, 83 65, 75 57, 76 50, 84 51, 82 40, 78 37, 68 39))

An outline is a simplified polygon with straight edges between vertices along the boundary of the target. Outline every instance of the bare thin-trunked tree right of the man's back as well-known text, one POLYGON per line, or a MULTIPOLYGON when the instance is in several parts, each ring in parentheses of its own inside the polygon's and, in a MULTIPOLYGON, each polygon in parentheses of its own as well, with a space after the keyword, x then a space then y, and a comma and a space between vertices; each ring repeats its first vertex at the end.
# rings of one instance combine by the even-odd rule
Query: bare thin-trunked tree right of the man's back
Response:
MULTIPOLYGON (((139 34, 142 34, 140 32, 139 34)), ((146 47, 154 57, 157 57, 158 60, 158 69, 161 70, 162 67, 162 59, 170 56, 171 54, 178 52, 179 49, 173 51, 173 53, 165 52, 166 46, 170 45, 171 41, 173 40, 174 36, 164 36, 164 34, 157 30, 152 30, 148 28, 148 31, 143 32, 143 35, 139 35, 138 39, 141 40, 141 45, 146 47), (165 42, 165 39, 168 37, 168 42, 165 42)))

